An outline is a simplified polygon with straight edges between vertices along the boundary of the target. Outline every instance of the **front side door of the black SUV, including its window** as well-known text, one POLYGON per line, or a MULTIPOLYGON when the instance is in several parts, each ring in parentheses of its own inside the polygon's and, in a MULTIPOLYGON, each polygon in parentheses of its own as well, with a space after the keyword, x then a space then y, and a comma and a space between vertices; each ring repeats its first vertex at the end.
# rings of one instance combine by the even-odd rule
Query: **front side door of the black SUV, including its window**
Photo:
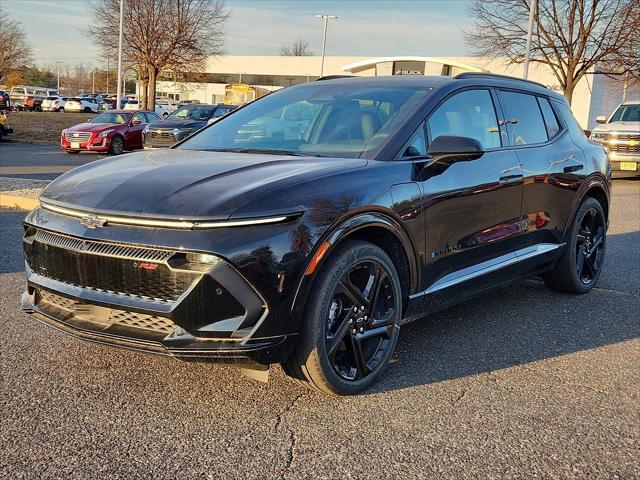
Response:
POLYGON ((521 241, 522 170, 504 142, 491 89, 447 98, 427 118, 428 140, 441 135, 478 140, 484 153, 438 170, 425 167, 425 292, 465 284, 515 258, 521 241))

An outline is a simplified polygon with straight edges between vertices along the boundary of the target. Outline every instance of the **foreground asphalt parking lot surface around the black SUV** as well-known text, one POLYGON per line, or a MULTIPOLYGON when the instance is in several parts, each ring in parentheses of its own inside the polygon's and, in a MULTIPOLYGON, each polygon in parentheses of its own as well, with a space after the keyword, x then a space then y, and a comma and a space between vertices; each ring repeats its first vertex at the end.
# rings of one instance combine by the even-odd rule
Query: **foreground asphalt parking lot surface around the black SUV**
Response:
POLYGON ((22 216, 0 211, 0 478, 640 478, 640 181, 615 182, 591 293, 528 280, 408 325, 353 398, 37 323, 22 216))

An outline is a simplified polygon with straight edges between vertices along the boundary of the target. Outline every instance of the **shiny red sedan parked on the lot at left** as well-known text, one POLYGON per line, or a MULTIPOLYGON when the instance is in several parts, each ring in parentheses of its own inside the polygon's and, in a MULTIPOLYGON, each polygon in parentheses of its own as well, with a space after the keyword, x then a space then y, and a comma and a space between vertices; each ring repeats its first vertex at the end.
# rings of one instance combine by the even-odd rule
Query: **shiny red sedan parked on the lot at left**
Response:
POLYGON ((142 148, 142 130, 148 123, 162 119, 146 110, 109 110, 62 131, 60 147, 66 153, 81 151, 119 155, 125 150, 142 148))

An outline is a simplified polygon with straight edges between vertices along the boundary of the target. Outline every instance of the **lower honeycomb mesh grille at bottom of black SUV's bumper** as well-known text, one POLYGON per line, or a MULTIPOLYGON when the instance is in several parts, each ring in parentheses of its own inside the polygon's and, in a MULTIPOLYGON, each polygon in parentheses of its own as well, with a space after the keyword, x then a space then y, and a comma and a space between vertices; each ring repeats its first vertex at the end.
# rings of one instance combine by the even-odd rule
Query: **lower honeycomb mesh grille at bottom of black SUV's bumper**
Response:
MULTIPOLYGON (((62 295, 57 295, 53 292, 49 292, 48 290, 39 290, 38 294, 40 296, 38 305, 43 307, 45 310, 50 307, 55 307, 65 310, 68 315, 75 316, 76 313, 80 312, 81 316, 83 307, 92 308, 91 306, 82 304, 68 297, 63 297, 62 295)), ((148 332, 166 336, 176 328, 176 324, 165 317, 129 312, 126 310, 106 309, 105 307, 97 308, 105 311, 108 310, 108 317, 105 315, 105 318, 107 319, 105 322, 95 322, 100 323, 100 327, 103 329, 116 325, 127 328, 139 328, 148 332)))

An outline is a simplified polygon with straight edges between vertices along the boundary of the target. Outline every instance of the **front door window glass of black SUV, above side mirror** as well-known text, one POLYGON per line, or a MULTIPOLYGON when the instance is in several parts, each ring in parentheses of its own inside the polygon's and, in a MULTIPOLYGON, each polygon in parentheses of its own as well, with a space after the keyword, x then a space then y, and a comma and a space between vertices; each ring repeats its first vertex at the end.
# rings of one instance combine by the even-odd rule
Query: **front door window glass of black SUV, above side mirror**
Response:
POLYGON ((427 121, 431 140, 441 135, 469 137, 498 148, 500 128, 489 90, 467 90, 445 101, 427 121))

